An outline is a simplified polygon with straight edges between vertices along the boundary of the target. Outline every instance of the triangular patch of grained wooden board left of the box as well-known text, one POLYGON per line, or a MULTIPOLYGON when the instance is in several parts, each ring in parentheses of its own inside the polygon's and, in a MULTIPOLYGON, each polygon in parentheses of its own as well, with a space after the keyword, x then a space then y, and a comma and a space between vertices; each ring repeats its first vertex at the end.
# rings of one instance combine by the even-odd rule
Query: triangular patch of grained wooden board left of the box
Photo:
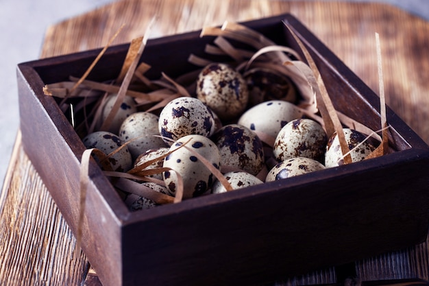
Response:
POLYGON ((79 285, 84 254, 21 144, 12 159, 1 198, 0 284, 79 285))

